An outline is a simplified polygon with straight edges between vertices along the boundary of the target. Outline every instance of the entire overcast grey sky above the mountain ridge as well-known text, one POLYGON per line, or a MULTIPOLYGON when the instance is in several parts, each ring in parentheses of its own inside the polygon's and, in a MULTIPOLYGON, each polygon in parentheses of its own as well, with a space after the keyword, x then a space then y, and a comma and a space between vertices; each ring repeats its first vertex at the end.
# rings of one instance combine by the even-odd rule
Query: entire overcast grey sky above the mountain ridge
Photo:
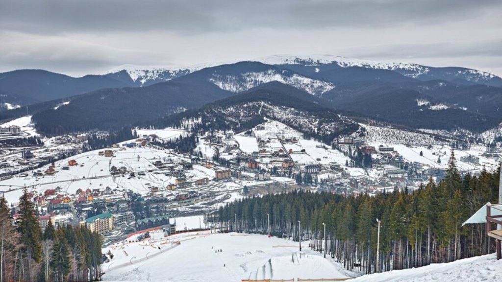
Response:
POLYGON ((0 0, 0 72, 336 55, 502 76, 500 0, 0 0))

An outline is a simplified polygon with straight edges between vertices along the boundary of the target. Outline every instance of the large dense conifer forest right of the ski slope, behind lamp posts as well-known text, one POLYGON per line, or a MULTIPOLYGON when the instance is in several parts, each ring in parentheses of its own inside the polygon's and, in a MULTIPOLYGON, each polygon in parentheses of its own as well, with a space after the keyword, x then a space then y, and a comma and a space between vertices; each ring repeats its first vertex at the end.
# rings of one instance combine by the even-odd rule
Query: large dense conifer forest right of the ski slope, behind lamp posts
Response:
MULTIPOLYGON (((487 202, 496 203, 499 173, 461 176, 452 153, 446 178, 415 191, 344 196, 293 192, 245 198, 214 215, 239 232, 310 240, 311 247, 364 273, 449 262, 494 251, 485 224, 462 223, 487 202), (236 219, 236 220, 235 220, 236 219), (376 249, 380 226, 380 263, 376 249), (326 224, 326 240, 323 240, 326 224)), ((303 246, 302 247, 308 247, 303 246)))

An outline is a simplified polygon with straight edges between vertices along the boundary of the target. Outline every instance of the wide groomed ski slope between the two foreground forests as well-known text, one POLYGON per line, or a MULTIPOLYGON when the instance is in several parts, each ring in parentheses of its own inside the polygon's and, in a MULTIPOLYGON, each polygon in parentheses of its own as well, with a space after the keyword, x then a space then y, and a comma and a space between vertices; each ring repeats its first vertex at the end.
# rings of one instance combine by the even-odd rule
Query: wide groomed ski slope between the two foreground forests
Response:
POLYGON ((318 252, 307 247, 299 252, 298 242, 264 235, 186 233, 155 243, 146 240, 123 248, 117 244, 103 253, 108 250, 114 258, 103 265, 104 281, 346 278, 338 264, 318 252), (115 267, 123 262, 126 265, 115 267))

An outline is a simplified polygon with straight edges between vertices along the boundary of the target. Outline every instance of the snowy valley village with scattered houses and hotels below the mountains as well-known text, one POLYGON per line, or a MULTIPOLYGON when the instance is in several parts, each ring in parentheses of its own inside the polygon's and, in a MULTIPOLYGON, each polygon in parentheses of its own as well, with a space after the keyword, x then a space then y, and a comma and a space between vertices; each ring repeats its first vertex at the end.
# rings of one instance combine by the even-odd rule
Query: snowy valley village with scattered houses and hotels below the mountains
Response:
POLYGON ((31 150, 2 149, 0 189, 14 218, 26 189, 43 229, 49 221, 85 225, 112 242, 153 227, 174 232, 176 217, 208 214, 252 195, 417 189, 444 177, 452 146, 461 173, 493 169, 499 160, 496 152, 457 149, 425 133, 412 136, 422 140, 417 145, 382 142, 368 133, 328 146, 274 120, 238 134, 207 132, 193 154, 151 144, 186 135, 183 129, 136 130, 136 139, 83 153, 85 134, 44 138, 31 150))

